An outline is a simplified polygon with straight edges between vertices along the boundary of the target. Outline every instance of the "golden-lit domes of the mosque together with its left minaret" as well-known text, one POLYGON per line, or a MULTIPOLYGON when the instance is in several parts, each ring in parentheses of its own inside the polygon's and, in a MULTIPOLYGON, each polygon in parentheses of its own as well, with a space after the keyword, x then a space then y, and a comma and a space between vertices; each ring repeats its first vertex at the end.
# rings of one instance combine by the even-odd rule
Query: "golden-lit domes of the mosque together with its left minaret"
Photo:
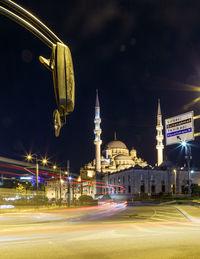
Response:
POLYGON ((116 133, 114 140, 109 142, 101 152, 102 130, 100 128, 101 118, 98 92, 96 93, 94 124, 95 159, 81 169, 81 174, 85 174, 85 176, 87 175, 88 177, 93 178, 95 176, 95 172, 99 172, 104 175, 108 172, 119 172, 136 165, 142 168, 148 165, 147 162, 137 156, 137 151, 134 148, 129 150, 122 141, 117 140, 116 133))

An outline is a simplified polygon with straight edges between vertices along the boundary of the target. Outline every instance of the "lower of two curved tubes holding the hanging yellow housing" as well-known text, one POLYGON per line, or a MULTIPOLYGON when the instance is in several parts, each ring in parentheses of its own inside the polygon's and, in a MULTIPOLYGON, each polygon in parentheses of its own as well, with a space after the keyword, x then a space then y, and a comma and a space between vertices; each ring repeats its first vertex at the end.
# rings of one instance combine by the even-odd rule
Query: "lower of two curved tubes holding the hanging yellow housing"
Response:
POLYGON ((35 36, 37 36, 41 41, 43 41, 49 48, 53 47, 53 42, 49 40, 44 34, 42 34, 38 29, 36 29, 33 25, 31 25, 26 20, 22 19, 20 16, 16 15, 15 13, 7 10, 6 8, 0 6, 0 13, 7 16, 14 22, 22 25, 25 29, 32 32, 35 36))

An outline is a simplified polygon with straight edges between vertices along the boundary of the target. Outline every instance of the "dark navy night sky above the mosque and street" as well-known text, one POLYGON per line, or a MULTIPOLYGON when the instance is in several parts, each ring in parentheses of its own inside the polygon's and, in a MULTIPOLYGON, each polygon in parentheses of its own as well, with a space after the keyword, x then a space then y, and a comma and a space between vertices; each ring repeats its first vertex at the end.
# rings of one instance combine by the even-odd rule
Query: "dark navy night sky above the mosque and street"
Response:
MULTIPOLYGON (((26 152, 79 172, 94 158, 93 128, 99 89, 103 146, 118 140, 156 162, 157 100, 164 119, 194 110, 200 91, 199 0, 16 1, 41 19, 72 53, 76 106, 59 138, 52 73, 39 62, 51 50, 1 15, 0 156, 22 160, 26 152), (191 105, 188 105, 191 104, 191 105)), ((200 131, 200 123, 195 124, 200 131)), ((192 142, 200 166, 200 138, 192 142)), ((166 149, 165 149, 166 151, 166 149)), ((183 164, 173 145, 165 156, 183 164)))

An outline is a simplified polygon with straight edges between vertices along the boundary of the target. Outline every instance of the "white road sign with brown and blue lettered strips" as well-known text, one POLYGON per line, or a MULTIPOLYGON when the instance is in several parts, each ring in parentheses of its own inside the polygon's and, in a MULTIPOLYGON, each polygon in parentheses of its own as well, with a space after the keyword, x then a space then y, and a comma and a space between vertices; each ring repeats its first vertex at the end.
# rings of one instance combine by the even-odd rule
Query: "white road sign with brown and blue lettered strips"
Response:
POLYGON ((194 139, 194 113, 186 112, 165 120, 166 145, 194 139))

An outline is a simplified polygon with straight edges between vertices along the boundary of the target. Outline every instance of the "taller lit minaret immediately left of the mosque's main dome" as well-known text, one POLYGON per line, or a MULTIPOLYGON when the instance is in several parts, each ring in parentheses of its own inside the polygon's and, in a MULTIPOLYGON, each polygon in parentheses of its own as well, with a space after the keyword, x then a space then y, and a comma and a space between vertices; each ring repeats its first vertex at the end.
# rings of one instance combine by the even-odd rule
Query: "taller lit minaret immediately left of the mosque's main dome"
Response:
POLYGON ((96 105, 95 105, 95 118, 94 118, 94 144, 96 146, 96 171, 101 172, 101 128, 100 128, 101 118, 100 118, 100 105, 98 90, 96 91, 96 105))

